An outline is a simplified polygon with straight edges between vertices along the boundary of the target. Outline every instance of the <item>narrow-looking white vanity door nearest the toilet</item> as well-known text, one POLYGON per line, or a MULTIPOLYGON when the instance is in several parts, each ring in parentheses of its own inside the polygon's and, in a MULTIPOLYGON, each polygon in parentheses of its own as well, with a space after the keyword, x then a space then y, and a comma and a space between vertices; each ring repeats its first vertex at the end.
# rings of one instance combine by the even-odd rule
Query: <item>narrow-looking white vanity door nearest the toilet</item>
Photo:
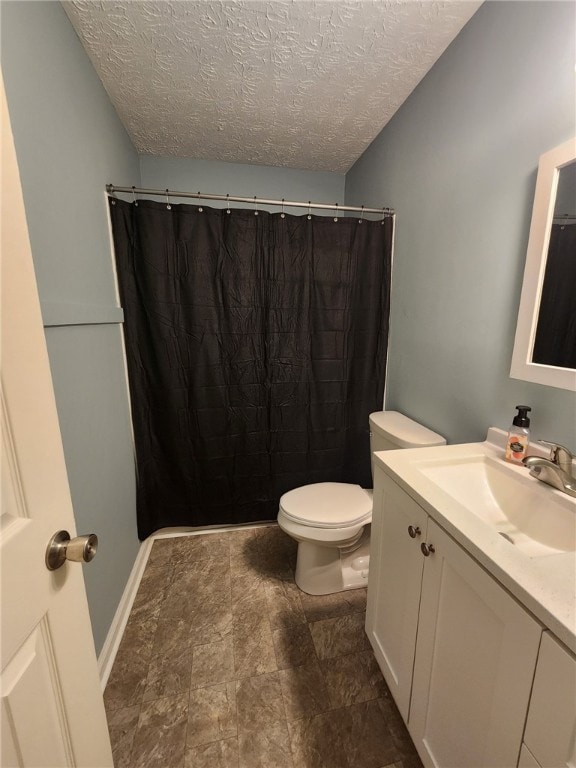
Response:
POLYGON ((366 632, 382 674, 408 720, 427 516, 380 469, 375 471, 366 632), (413 526, 415 537, 408 533, 413 526))

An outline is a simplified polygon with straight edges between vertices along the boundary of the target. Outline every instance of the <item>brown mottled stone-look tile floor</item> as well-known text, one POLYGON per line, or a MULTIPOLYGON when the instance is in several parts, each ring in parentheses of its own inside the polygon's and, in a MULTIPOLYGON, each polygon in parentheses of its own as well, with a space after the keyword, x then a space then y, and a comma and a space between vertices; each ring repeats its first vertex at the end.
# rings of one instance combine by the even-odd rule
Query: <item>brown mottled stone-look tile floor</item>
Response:
POLYGON ((364 633, 276 526, 158 539, 104 694, 116 768, 420 768, 364 633))

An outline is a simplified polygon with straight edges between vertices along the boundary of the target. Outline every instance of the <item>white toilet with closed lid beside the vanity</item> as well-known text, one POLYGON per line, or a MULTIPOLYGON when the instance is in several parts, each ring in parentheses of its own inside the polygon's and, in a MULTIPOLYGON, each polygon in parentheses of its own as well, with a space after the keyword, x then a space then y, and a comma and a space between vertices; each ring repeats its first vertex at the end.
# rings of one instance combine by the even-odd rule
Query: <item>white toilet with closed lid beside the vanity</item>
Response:
MULTIPOLYGON (((397 411, 370 415, 370 454, 445 445, 446 440, 397 411)), ((278 525, 298 542, 296 584, 309 595, 368 582, 372 491, 351 483, 313 483, 280 498, 278 525)))

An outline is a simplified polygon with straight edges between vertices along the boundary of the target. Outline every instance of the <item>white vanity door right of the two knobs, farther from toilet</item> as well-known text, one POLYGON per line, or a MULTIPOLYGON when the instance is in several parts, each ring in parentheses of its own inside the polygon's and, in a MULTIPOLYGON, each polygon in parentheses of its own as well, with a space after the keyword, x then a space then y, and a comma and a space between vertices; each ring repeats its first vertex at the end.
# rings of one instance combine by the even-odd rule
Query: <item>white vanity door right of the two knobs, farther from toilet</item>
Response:
POLYGON ((540 625, 434 522, 408 730, 426 766, 518 764, 540 625))

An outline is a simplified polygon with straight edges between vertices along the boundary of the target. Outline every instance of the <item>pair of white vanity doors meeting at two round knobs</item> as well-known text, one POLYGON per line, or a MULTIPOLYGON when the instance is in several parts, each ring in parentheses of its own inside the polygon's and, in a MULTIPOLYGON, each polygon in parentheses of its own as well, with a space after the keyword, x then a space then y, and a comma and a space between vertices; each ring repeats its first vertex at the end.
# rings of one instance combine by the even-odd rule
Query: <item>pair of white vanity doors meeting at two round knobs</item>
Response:
POLYGON ((366 629, 424 765, 516 766, 540 624, 379 467, 372 536, 366 629))

